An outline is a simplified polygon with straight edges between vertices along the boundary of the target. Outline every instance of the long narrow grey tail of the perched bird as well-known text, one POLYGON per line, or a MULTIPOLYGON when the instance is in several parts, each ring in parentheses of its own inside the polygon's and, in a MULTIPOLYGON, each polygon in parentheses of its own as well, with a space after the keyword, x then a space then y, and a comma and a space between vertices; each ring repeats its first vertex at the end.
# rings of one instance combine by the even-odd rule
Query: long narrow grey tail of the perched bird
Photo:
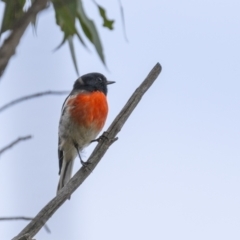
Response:
POLYGON ((63 160, 60 179, 58 182, 57 194, 58 192, 68 183, 72 176, 72 169, 73 169, 74 161, 65 161, 63 160))

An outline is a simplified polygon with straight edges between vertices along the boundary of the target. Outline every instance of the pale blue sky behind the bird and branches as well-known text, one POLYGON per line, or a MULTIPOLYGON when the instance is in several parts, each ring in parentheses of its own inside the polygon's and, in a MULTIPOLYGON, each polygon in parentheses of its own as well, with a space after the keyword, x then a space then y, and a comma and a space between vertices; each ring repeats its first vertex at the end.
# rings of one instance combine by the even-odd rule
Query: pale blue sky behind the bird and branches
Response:
MULTIPOLYGON (((101 72, 109 86, 108 128, 159 62, 144 95, 97 168, 47 222, 37 240, 240 238, 240 3, 237 0, 98 0, 115 19, 96 21, 107 68, 75 41, 80 75, 101 72)), ((4 4, 0 3, 0 19, 4 4)), ((70 91, 77 79, 53 9, 29 27, 0 81, 0 106, 46 90, 70 91)), ((34 217, 56 194, 58 122, 66 95, 45 96, 0 113, 0 216, 34 217)), ((83 152, 86 160, 94 144, 83 152)), ((80 167, 75 160, 74 172, 80 167)), ((0 222, 1 239, 26 221, 0 222)))

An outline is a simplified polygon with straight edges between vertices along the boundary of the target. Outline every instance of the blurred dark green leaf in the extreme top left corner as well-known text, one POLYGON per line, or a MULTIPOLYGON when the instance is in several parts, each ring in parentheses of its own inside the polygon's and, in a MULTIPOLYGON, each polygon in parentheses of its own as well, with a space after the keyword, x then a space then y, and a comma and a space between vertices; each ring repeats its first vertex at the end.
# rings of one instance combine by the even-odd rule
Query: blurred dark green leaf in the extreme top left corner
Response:
POLYGON ((26 0, 2 0, 5 3, 5 10, 3 13, 3 20, 0 35, 12 30, 14 24, 22 17, 24 11, 23 7, 26 0))

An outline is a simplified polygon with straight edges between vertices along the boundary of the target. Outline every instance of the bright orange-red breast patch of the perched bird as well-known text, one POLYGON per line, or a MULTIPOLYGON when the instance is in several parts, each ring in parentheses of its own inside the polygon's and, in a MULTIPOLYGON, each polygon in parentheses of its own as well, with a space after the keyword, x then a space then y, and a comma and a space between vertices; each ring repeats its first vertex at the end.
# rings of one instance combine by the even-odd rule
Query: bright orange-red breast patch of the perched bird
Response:
POLYGON ((108 104, 103 92, 81 93, 69 99, 72 120, 78 125, 91 127, 99 131, 103 128, 108 114, 108 104))

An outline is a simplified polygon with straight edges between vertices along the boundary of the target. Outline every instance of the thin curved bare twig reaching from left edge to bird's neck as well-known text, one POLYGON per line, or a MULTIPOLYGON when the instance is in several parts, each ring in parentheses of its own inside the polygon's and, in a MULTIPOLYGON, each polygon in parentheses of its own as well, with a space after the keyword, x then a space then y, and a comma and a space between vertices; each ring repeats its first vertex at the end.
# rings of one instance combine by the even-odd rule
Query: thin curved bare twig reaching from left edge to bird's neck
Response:
POLYGON ((15 100, 3 105, 2 107, 0 107, 0 112, 4 111, 5 109, 7 109, 17 103, 29 100, 31 98, 42 97, 44 95, 61 95, 61 94, 68 94, 68 93, 69 93, 69 91, 45 91, 45 92, 34 93, 31 95, 17 98, 15 100))

